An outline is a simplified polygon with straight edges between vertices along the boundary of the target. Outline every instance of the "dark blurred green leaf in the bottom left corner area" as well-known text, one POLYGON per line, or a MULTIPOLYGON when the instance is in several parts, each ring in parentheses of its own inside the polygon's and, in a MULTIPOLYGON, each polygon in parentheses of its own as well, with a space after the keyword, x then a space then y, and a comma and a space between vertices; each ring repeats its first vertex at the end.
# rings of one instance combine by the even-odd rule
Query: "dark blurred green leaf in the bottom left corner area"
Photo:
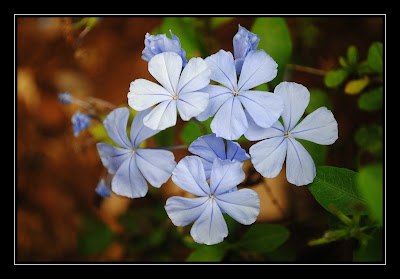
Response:
POLYGON ((78 252, 93 255, 104 251, 113 241, 111 229, 93 215, 83 217, 78 235, 78 252))

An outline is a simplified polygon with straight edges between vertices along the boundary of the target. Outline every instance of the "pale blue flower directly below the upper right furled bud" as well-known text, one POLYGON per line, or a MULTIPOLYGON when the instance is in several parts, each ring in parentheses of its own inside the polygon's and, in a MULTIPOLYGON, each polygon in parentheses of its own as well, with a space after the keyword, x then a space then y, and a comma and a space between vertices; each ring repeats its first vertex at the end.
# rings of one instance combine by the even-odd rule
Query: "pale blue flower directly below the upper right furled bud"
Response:
POLYGON ((250 117, 263 128, 274 124, 283 111, 282 98, 276 94, 251 90, 271 81, 277 74, 278 65, 264 50, 250 51, 243 62, 237 81, 232 53, 220 50, 205 59, 211 69, 211 80, 224 85, 208 85, 210 101, 204 112, 196 118, 205 121, 215 114, 211 130, 217 137, 239 139, 248 129, 243 107, 250 117))

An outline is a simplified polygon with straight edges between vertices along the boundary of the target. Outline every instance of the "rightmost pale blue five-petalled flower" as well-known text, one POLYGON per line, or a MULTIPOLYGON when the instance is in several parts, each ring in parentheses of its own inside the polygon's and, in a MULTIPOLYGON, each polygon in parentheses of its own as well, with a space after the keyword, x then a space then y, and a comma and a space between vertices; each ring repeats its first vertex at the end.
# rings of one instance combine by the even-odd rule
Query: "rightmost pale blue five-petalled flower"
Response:
POLYGON ((316 175, 315 164, 296 139, 333 144, 338 138, 338 124, 326 107, 318 108, 297 124, 310 102, 310 92, 303 85, 282 82, 274 92, 285 103, 283 125, 277 121, 265 129, 249 118, 245 137, 252 141, 262 140, 250 147, 251 161, 260 174, 271 178, 279 174, 286 157, 287 180, 297 186, 309 184, 316 175))

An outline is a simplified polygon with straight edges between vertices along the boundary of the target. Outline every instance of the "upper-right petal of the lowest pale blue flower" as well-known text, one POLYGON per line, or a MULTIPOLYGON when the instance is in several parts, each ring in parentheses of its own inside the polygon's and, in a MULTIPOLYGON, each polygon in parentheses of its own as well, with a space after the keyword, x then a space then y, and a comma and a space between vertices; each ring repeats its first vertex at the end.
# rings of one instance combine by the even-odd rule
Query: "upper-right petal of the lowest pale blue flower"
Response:
POLYGON ((242 167, 242 162, 215 158, 210 175, 211 193, 219 195, 240 184, 246 176, 242 167))

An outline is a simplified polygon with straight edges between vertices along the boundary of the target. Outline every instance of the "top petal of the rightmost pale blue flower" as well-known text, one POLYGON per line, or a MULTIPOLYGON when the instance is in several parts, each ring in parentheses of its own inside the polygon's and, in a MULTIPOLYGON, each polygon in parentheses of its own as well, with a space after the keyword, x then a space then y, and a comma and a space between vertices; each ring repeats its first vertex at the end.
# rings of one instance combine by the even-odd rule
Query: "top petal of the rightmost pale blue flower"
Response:
POLYGON ((290 131, 304 114, 310 102, 310 92, 301 84, 284 81, 275 87, 274 93, 283 98, 285 108, 281 116, 285 131, 290 131))

